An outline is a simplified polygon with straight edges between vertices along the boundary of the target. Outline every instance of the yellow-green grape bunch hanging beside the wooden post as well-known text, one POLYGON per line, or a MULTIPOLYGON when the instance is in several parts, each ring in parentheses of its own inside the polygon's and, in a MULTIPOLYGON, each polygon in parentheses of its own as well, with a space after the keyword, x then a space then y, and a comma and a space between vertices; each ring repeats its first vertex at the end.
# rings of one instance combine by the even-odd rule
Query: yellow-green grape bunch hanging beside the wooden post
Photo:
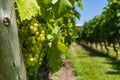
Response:
POLYGON ((37 22, 19 28, 22 53, 27 68, 41 65, 43 58, 42 46, 45 38, 45 30, 37 22))

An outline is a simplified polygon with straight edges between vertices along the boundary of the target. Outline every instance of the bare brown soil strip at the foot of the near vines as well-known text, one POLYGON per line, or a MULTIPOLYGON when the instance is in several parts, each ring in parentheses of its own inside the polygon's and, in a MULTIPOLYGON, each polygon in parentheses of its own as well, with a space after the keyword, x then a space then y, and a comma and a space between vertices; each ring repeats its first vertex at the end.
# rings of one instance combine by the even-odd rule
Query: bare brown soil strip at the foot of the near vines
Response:
POLYGON ((63 67, 58 71, 58 76, 50 76, 50 80, 76 80, 70 64, 70 59, 65 60, 63 67))

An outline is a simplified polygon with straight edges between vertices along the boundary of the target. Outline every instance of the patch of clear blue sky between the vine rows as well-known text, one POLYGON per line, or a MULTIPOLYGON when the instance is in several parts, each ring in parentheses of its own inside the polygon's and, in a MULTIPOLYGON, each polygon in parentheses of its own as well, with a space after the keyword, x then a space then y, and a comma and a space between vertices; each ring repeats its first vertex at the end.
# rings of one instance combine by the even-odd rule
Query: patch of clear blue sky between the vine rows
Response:
POLYGON ((84 9, 75 9, 81 14, 80 20, 76 19, 76 24, 84 24, 84 22, 91 20, 94 16, 100 15, 103 8, 107 4, 107 0, 82 0, 84 9))

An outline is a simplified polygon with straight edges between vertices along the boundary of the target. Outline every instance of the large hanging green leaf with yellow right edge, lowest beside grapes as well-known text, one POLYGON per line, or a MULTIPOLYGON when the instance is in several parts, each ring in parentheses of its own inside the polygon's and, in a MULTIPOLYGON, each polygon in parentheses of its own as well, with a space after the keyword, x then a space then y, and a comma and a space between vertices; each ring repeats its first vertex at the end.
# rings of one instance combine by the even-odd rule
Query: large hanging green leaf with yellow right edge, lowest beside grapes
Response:
POLYGON ((65 53, 67 52, 67 47, 61 43, 59 37, 56 37, 48 51, 47 58, 49 66, 53 70, 60 69, 63 64, 65 53))

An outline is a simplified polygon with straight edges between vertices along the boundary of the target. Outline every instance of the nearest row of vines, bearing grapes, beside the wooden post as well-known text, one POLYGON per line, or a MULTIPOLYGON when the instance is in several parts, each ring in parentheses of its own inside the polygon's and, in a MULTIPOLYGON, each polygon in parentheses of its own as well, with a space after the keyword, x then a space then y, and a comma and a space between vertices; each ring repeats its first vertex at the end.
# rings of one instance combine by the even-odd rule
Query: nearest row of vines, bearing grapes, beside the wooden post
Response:
POLYGON ((18 32, 30 80, 46 80, 69 55, 77 37, 75 18, 82 0, 14 0, 18 32))

